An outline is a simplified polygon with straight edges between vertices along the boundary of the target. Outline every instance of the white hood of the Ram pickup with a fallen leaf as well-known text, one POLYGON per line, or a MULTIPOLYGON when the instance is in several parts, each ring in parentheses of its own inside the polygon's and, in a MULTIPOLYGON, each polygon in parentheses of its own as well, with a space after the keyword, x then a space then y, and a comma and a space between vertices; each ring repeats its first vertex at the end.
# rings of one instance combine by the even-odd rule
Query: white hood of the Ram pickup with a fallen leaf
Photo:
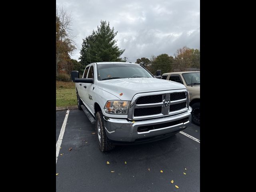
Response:
POLYGON ((98 81, 98 88, 113 94, 120 100, 132 100, 137 93, 185 89, 186 87, 177 82, 158 78, 123 78, 98 81))

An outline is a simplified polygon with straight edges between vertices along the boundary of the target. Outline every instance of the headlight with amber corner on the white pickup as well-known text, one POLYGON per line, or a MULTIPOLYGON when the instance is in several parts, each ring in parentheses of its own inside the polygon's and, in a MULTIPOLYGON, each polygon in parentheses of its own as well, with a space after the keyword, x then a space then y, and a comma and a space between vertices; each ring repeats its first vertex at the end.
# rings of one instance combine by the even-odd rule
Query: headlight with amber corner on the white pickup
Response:
POLYGON ((127 115, 130 101, 108 101, 104 111, 108 114, 127 115))

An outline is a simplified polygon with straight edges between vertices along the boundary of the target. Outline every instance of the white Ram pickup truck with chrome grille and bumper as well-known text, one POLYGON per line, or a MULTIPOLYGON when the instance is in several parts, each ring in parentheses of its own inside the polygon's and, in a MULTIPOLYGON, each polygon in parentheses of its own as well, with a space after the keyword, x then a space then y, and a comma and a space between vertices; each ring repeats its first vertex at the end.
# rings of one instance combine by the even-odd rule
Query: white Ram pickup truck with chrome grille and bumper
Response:
POLYGON ((71 72, 78 109, 95 123, 102 152, 117 144, 160 140, 191 123, 189 95, 180 83, 155 78, 135 63, 97 62, 82 78, 71 72))

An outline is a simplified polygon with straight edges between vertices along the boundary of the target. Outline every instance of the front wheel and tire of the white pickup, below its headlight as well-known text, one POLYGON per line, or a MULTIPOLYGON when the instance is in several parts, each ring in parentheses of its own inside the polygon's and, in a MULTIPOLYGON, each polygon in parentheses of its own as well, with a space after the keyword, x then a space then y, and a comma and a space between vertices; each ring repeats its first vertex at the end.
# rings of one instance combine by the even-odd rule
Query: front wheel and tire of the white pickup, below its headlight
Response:
POLYGON ((105 151, 112 150, 114 148, 114 144, 112 144, 106 136, 103 114, 101 111, 97 112, 95 119, 96 119, 95 126, 98 134, 98 145, 99 145, 100 151, 105 152, 105 151))

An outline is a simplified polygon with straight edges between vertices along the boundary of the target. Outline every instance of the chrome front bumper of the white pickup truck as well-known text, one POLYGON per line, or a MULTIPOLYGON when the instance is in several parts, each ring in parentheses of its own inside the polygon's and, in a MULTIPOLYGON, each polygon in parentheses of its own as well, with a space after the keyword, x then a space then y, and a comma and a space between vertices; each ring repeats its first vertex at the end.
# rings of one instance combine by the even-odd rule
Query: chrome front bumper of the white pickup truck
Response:
POLYGON ((178 132, 183 130, 191 123, 191 111, 192 108, 180 115, 173 115, 163 118, 158 118, 154 120, 143 120, 143 121, 128 121, 127 119, 116 119, 108 118, 104 116, 104 124, 106 129, 107 137, 112 141, 117 142, 135 142, 136 140, 141 140, 143 138, 151 138, 154 136, 160 136, 169 134, 172 132, 178 132), (146 132, 138 132, 138 127, 140 126, 151 126, 169 123, 183 118, 187 118, 188 121, 184 123, 174 124, 172 126, 167 126, 159 129, 153 129, 146 132))

